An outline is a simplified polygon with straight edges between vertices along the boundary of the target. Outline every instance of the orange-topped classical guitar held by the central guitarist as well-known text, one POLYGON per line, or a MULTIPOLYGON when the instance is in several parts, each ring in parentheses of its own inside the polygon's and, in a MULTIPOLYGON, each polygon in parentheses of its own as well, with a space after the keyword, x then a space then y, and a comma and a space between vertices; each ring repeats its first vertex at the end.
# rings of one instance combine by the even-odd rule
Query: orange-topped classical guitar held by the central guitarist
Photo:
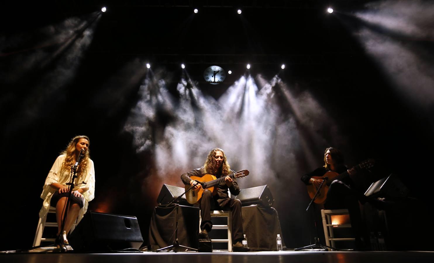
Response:
MULTIPOLYGON (((237 171, 236 173, 229 174, 228 176, 230 178, 243 178, 246 177, 247 175, 249 175, 249 170, 237 171)), ((190 176, 190 178, 191 180, 197 180, 204 183, 202 186, 199 186, 199 188, 197 188, 196 190, 190 190, 185 194, 185 198, 187 199, 187 202, 190 204, 194 204, 201 199, 202 194, 204 193, 205 190, 209 190, 212 192, 213 195, 216 195, 217 188, 218 188, 216 186, 220 183, 223 183, 224 178, 226 178, 226 176, 217 178, 212 174, 205 174, 202 177, 190 176)), ((190 184, 187 184, 185 186, 185 191, 187 191, 188 188, 190 188, 190 184)))

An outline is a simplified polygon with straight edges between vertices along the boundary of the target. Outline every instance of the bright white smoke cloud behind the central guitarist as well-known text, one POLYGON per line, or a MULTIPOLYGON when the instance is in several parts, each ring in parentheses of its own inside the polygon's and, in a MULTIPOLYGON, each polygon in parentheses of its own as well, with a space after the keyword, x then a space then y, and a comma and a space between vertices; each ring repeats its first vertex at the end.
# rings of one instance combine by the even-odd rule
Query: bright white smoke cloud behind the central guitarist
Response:
MULTIPOLYGON (((302 185, 299 178, 307 172, 301 171, 296 163, 296 156, 302 153, 299 122, 295 116, 283 117, 287 115, 277 106, 273 87, 283 85, 281 80, 275 77, 264 83, 260 89, 252 77, 241 77, 216 101, 204 95, 194 83, 182 79, 177 87, 181 94, 179 102, 166 109, 172 121, 164 128, 155 128, 150 123, 156 122, 158 108, 167 106, 166 103, 175 105, 174 98, 164 83, 159 83, 161 99, 158 100, 149 82, 145 82, 125 131, 133 135, 138 152, 154 153, 156 169, 164 171, 164 177, 160 177, 162 183, 172 181, 168 174, 179 180, 182 172, 201 167, 208 152, 220 147, 234 170, 250 171, 247 179, 239 181, 242 188, 268 184, 275 191, 285 191, 285 187, 288 190, 285 183, 296 182, 289 189, 297 188, 294 193, 299 193, 302 185), (154 136, 155 129, 162 132, 158 138, 154 136)), ((325 125, 332 122, 312 96, 304 93, 292 103, 296 104, 297 118, 303 125, 315 129, 313 134, 319 136, 320 129, 329 129, 327 134, 339 136, 335 125, 325 125)), ((312 169, 321 164, 322 151, 329 146, 326 140, 317 141, 322 145, 317 146, 318 158, 312 161, 312 169)), ((302 191, 305 191, 303 187, 302 191)))

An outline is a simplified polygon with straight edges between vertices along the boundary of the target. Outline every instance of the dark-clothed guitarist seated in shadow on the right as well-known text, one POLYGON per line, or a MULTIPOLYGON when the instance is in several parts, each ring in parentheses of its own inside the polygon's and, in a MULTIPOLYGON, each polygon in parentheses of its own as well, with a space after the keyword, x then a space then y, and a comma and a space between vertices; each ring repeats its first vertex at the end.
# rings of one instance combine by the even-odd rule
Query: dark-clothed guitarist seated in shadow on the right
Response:
MULTIPOLYGON (((317 168, 308 174, 304 174, 301 177, 301 181, 303 181, 306 185, 313 184, 316 189, 318 189, 323 181, 321 178, 326 176, 325 174, 329 171, 333 171, 337 174, 347 173, 350 176, 358 173, 355 168, 348 169, 344 165, 344 157, 342 152, 333 147, 325 149, 324 163, 325 165, 323 167, 317 168)), ((328 179, 330 180, 331 178, 328 179)), ((363 244, 361 237, 364 236, 365 240, 368 238, 366 237, 366 233, 362 230, 362 219, 358 202, 360 201, 362 204, 368 202, 377 207, 379 210, 385 209, 385 207, 390 205, 390 203, 375 198, 366 197, 362 192, 357 191, 354 187, 352 187, 352 180, 349 176, 343 176, 341 180, 334 180, 328 186, 329 189, 327 191, 324 208, 349 210, 351 225, 356 239, 356 248, 364 249, 365 244, 363 244)), ((327 187, 325 182, 322 187, 327 187)))

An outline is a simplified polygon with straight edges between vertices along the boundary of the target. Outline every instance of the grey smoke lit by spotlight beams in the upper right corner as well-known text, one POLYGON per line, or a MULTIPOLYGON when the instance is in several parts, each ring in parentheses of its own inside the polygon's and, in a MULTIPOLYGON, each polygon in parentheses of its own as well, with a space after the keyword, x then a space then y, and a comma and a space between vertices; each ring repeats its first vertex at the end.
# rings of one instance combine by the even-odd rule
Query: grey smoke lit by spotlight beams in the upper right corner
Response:
POLYGON ((432 50, 413 40, 434 40, 434 3, 421 0, 381 1, 367 7, 368 10, 355 16, 395 34, 400 33, 411 42, 367 27, 357 32, 358 38, 367 52, 380 63, 403 99, 416 107, 429 109, 434 101, 432 50))

